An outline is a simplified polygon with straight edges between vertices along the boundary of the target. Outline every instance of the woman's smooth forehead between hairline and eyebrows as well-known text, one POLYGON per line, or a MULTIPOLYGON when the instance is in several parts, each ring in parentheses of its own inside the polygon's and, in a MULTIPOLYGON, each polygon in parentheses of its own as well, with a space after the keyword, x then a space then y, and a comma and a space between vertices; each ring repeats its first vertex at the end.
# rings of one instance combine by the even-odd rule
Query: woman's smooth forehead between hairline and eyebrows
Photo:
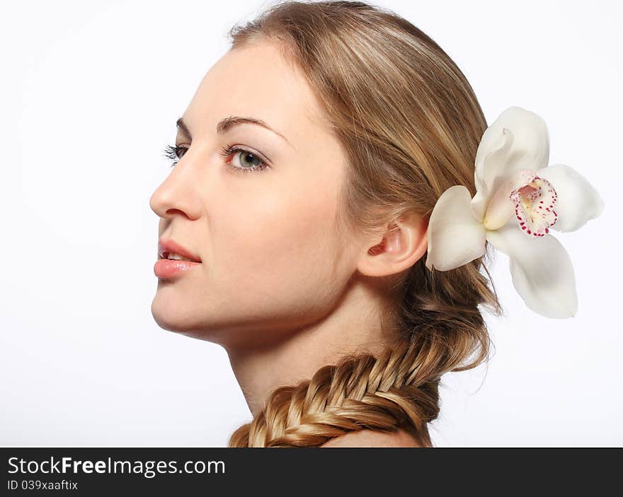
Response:
POLYGON ((328 129, 307 80, 273 42, 254 42, 224 54, 202 78, 184 115, 191 130, 206 132, 223 117, 256 117, 290 141, 328 129))

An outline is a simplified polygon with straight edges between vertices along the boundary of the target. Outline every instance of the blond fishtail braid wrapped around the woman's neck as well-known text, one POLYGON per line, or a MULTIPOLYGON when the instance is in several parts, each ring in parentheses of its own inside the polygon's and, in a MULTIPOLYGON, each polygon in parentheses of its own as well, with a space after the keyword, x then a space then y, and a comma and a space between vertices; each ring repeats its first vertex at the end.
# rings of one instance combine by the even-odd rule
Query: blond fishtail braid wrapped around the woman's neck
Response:
MULTIPOLYGON (((351 354, 311 380, 279 387, 265 409, 232 434, 229 447, 312 447, 365 428, 425 432, 439 412, 439 376, 431 372, 439 370, 442 354, 418 341, 385 349, 377 358, 351 354)), ((428 434, 423 440, 430 445, 428 434)))

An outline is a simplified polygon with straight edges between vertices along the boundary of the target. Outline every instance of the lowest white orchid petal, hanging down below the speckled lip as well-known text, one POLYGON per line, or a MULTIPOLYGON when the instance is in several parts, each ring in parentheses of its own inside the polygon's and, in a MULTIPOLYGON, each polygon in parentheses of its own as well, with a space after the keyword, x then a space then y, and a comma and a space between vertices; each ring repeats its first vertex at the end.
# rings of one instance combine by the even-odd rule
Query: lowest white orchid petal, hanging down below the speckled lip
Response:
POLYGON ((578 310, 576 276, 568 253, 551 235, 528 238, 514 220, 486 232, 508 255, 513 285, 528 308, 545 317, 573 317, 578 310))

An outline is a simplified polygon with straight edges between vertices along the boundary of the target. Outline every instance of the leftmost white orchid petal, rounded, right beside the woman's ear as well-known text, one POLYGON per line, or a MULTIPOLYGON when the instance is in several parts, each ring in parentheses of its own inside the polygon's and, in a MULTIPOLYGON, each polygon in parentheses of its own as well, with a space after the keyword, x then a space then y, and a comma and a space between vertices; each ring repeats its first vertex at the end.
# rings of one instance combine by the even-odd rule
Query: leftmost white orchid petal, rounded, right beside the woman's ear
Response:
POLYGON ((471 214, 471 195, 463 185, 441 194, 428 221, 426 267, 448 271, 484 255, 486 230, 471 214))

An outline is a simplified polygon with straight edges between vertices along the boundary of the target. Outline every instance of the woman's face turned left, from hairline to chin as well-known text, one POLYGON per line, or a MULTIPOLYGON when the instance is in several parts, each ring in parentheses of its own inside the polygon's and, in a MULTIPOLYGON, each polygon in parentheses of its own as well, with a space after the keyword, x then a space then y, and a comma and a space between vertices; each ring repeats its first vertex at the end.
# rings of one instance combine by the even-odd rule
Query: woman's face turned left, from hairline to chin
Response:
POLYGON ((246 346, 324 317, 360 247, 335 225, 345 156, 303 76, 269 42, 234 49, 207 72, 182 118, 190 134, 178 129, 176 144, 188 149, 149 204, 159 237, 201 263, 159 279, 156 322, 246 346), (226 117, 260 119, 277 132, 250 123, 217 131, 226 117), (224 156, 228 146, 244 151, 224 156), (261 162, 263 170, 243 170, 261 162))

